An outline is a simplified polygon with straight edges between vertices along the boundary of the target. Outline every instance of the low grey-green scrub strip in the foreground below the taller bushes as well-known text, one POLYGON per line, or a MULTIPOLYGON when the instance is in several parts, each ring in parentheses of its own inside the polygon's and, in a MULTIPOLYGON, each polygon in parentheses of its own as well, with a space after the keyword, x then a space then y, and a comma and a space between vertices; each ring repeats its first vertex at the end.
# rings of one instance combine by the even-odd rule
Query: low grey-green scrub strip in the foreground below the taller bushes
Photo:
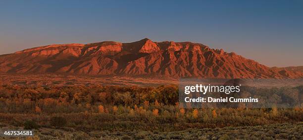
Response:
MULTIPOLYGON (((2 127, 20 129, 13 126, 2 127)), ((36 136, 27 140, 302 140, 303 122, 261 126, 187 129, 184 131, 83 131, 64 127, 61 129, 39 128, 36 136)), ((4 138, 2 138, 4 139, 4 138)), ((14 139, 18 140, 18 139, 14 139)))

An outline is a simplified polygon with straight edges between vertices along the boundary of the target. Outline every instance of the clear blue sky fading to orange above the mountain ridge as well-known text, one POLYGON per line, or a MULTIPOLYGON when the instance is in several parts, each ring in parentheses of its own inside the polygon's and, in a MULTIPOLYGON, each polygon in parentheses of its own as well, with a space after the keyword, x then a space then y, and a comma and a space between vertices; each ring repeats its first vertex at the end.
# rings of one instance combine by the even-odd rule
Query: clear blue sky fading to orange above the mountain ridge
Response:
POLYGON ((145 37, 303 66, 303 0, 0 0, 0 54, 145 37))

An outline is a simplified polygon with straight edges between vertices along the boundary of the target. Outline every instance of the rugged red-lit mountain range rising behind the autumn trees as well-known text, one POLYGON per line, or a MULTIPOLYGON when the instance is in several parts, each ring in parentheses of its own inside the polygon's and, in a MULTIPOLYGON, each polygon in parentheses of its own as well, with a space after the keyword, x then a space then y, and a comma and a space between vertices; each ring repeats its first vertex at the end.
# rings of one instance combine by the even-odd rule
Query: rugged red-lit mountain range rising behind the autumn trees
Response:
POLYGON ((0 56, 0 72, 138 75, 206 78, 299 78, 303 72, 271 69, 235 53, 192 42, 103 41, 56 44, 0 56))

